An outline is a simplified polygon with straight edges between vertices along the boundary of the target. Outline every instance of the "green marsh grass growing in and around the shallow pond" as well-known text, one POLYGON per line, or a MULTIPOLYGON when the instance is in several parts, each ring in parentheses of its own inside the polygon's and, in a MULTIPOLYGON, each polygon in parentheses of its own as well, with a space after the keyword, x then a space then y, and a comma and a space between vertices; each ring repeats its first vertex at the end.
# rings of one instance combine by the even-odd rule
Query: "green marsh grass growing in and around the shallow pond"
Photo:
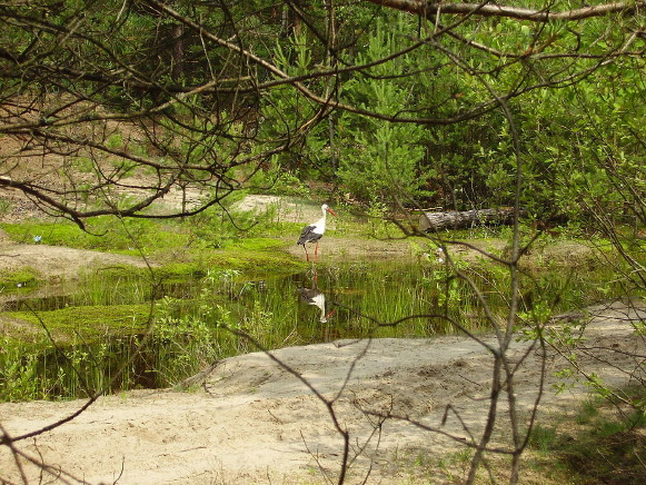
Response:
MULTIPOLYGON (((469 284, 438 261, 315 267, 264 237, 232 240, 215 250, 202 250, 203 239, 188 244, 198 248, 192 260, 152 270, 89 273, 69 296, 29 300, 28 307, 4 313, 41 334, 6 338, 0 355, 6 392, 0 398, 70 398, 171 386, 215 360, 257 350, 226 327, 249 334, 268 349, 368 336, 430 337, 457 331, 450 321, 470 331, 491 330, 469 284), (325 313, 334 310, 327 323, 319 320, 318 308, 299 299, 299 287, 325 294, 325 313)), ((480 288, 494 315, 505 318, 506 269, 487 261, 458 261, 458 269, 480 288)), ((526 271, 519 325, 544 323, 551 311, 619 294, 620 284, 597 269, 526 271)))

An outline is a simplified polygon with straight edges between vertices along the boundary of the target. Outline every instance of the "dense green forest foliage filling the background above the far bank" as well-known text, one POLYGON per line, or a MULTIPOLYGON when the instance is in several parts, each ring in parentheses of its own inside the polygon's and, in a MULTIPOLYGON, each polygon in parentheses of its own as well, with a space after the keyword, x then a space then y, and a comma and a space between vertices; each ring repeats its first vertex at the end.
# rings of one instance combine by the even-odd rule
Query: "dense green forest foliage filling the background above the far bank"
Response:
MULTIPOLYGON (((272 194, 306 195, 306 184, 318 179, 336 181, 344 192, 376 204, 389 205, 397 197, 406 205, 453 209, 510 205, 517 160, 507 121, 495 106, 483 106, 473 119, 446 125, 378 119, 459 118, 490 99, 490 88, 508 96, 520 136, 523 207, 530 220, 557 215, 587 225, 595 221, 594 214, 604 212, 613 224, 643 226, 639 210, 624 209, 638 209, 644 199, 645 128, 639 122, 645 115, 644 60, 615 57, 624 47, 628 52, 637 49, 639 39, 630 32, 639 30, 638 20, 586 19, 580 30, 573 30, 568 22, 487 18, 475 27, 467 19, 454 26, 454 36, 443 32, 430 40, 431 26, 415 16, 368 3, 337 4, 335 46, 329 46, 324 41, 329 27, 321 14, 325 7, 314 2, 301 12, 307 21, 300 23, 289 8, 284 11, 265 1, 226 8, 217 2, 173 6, 199 19, 205 31, 235 38, 236 46, 267 59, 288 77, 299 77, 317 97, 378 117, 322 112, 320 102, 284 83, 265 65, 231 56, 235 50, 216 47, 196 29, 183 29, 177 38, 175 19, 143 7, 125 10, 119 2, 108 2, 87 11, 82 2, 11 6, 8 9, 17 18, 47 18, 54 26, 78 18, 79 34, 58 42, 48 29, 34 34, 31 28, 7 22, 2 41, 7 59, 27 52, 32 62, 68 62, 71 72, 87 72, 89 79, 54 77, 50 83, 43 78, 33 86, 53 96, 66 91, 79 96, 100 106, 100 112, 145 112, 187 87, 209 86, 203 93, 182 93, 156 111, 155 130, 145 119, 138 130, 150 136, 146 143, 139 132, 106 130, 92 121, 95 113, 83 113, 97 130, 92 135, 106 130, 101 136, 108 150, 135 156, 160 151, 153 158, 160 166, 177 168, 180 186, 210 180, 217 172, 231 187, 249 181, 272 194), (417 46, 420 39, 426 41, 417 46), (480 44, 485 47, 471 49, 480 44), (85 63, 87 59, 90 63, 85 63), (354 65, 369 67, 345 70, 354 65), (119 79, 122 66, 151 88, 119 79), (335 67, 344 71, 318 76, 335 67), (97 89, 91 73, 110 73, 115 81, 97 89), (211 91, 213 80, 222 85, 211 91)), ((23 96, 31 86, 20 81, 19 66, 7 63, 1 82, 8 99, 23 96)), ((56 108, 51 112, 56 115, 56 108)), ((109 160, 97 160, 96 152, 83 152, 66 164, 100 178, 97 161, 108 161, 115 168, 110 177, 116 178, 155 171, 113 154, 109 160)), ((71 174, 66 169, 61 176, 71 174)), ((89 187, 85 179, 77 184, 89 187)), ((112 200, 120 207, 126 201, 112 200)))

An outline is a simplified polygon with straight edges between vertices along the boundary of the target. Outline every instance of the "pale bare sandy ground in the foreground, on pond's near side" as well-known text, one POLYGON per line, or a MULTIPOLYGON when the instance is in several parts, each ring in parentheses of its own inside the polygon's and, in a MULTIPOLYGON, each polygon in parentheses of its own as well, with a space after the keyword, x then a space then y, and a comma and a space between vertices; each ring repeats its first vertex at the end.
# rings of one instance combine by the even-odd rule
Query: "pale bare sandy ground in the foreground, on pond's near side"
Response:
MULTIPOLYGON (((646 350, 626 316, 620 306, 598 308, 588 328, 586 345, 603 349, 596 350, 600 359, 590 357, 582 364, 610 384, 625 382, 618 368, 635 366, 633 358, 615 348, 642 355, 646 350)), ((513 345, 514 360, 525 354, 527 345, 513 345)), ((369 483, 427 483, 428 477, 417 476, 414 465, 419 454, 439 459, 457 451, 460 439, 468 439, 465 425, 476 436, 483 429, 491 357, 474 340, 340 342, 285 348, 274 355, 326 399, 335 399, 339 425, 351 437, 350 456, 358 455, 348 483, 360 483, 370 467, 369 483), (461 423, 449 414, 443 425, 449 404, 461 423), (458 441, 401 420, 387 420, 380 435, 375 434, 376 418, 366 412, 388 410, 454 434, 458 441)), ((539 362, 538 353, 530 352, 518 376, 515 390, 525 416, 537 397, 539 362)), ((579 385, 555 395, 553 372, 564 363, 550 355, 547 364, 540 415, 574 413, 585 388, 579 385)), ((83 404, 1 404, 1 425, 6 433, 18 436, 64 418, 83 404)), ((501 414, 496 443, 508 444, 507 433, 500 433, 507 429, 501 414)), ((197 392, 102 397, 70 423, 21 441, 17 447, 32 459, 88 483, 120 484, 318 484, 325 483, 322 473, 337 479, 342 455, 342 439, 321 399, 265 354, 222 360, 197 392)), ((29 482, 37 482, 40 469, 24 458, 20 463, 29 482)), ((7 447, 0 453, 0 471, 1 477, 21 482, 7 447)), ((440 474, 431 482, 444 478, 440 474)))

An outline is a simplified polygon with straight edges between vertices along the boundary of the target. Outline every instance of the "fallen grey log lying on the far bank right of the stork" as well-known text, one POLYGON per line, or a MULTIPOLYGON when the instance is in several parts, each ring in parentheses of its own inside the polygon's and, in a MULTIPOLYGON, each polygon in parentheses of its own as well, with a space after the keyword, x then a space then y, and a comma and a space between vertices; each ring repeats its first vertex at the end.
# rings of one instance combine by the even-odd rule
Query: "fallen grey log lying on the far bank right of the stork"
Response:
POLYGON ((424 212, 419 216, 419 230, 464 229, 483 225, 501 225, 514 221, 514 208, 473 209, 449 212, 424 212))

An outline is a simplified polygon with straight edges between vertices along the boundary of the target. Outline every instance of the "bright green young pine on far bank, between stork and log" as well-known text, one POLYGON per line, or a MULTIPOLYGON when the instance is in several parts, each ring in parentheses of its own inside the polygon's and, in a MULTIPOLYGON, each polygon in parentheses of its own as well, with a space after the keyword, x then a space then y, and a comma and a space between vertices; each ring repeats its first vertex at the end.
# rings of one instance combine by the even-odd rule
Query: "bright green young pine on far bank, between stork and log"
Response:
MULTIPOLYGON (((378 22, 358 62, 374 62, 395 50, 405 16, 397 23, 378 22)), ((369 76, 355 77, 344 85, 344 95, 356 106, 370 106, 385 116, 397 116, 402 103, 415 93, 413 87, 400 86, 390 78, 408 70, 419 59, 401 57, 397 62, 377 65, 369 76)), ((342 146, 337 176, 349 191, 374 204, 394 196, 407 200, 424 197, 427 174, 423 168, 426 130, 414 123, 386 123, 381 120, 344 113, 339 118, 342 146)))

